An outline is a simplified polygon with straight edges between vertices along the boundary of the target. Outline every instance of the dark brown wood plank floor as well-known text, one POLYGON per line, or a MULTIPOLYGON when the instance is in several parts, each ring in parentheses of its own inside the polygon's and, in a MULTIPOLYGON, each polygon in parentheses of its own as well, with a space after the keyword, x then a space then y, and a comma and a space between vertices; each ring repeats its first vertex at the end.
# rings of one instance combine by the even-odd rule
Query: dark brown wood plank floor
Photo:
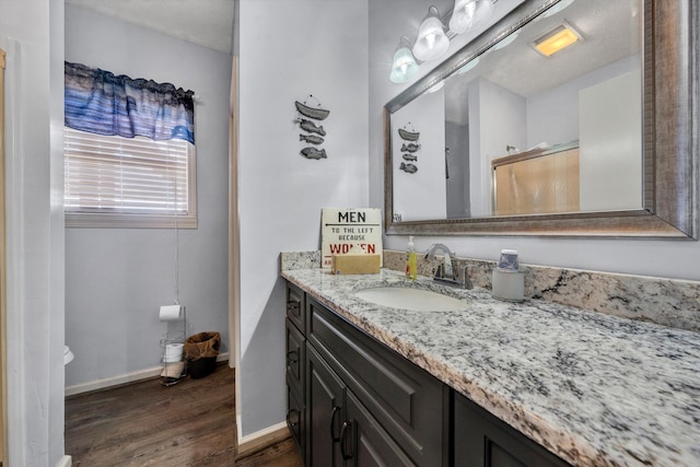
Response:
POLYGON ((66 399, 74 467, 301 467, 291 440, 235 460, 234 372, 225 364, 170 387, 148 380, 66 399))

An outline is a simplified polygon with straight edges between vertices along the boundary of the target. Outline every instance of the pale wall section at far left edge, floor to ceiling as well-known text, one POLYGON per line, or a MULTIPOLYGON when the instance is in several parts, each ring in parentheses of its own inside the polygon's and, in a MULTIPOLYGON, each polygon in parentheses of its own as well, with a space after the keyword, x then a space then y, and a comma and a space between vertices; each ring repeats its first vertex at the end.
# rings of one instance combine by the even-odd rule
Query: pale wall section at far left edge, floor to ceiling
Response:
POLYGON ((5 464, 63 462, 63 3, 0 1, 8 52, 5 464))

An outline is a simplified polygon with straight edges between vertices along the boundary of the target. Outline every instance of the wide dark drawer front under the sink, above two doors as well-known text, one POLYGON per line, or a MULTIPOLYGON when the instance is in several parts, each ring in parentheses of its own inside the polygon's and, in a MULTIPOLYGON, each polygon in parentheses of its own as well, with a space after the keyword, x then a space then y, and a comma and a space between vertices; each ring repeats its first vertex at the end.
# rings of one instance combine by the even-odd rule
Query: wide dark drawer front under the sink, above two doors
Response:
POLYGON ((307 299, 307 339, 418 465, 443 465, 448 390, 435 377, 307 299))

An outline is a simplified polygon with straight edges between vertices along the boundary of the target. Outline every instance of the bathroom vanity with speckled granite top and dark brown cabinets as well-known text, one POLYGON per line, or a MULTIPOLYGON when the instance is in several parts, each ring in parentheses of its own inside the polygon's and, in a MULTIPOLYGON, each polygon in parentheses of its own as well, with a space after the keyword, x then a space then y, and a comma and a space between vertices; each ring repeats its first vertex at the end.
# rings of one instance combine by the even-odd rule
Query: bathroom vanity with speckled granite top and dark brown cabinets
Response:
POLYGON ((306 466, 700 463, 700 336, 383 269, 283 270, 288 424, 306 466), (413 287, 465 310, 357 292, 413 287))

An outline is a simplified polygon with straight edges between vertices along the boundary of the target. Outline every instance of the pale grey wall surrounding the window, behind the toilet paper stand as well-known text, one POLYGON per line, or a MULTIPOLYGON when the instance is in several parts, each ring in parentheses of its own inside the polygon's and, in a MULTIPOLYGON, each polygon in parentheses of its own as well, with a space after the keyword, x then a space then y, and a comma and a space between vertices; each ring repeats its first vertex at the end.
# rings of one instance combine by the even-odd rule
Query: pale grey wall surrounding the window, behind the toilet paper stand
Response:
MULTIPOLYGON (((197 230, 180 230, 179 302, 187 334, 219 331, 228 351, 228 167, 231 56, 66 5, 66 60, 190 89, 197 147, 197 230)), ((175 300, 172 229, 66 231, 68 386, 158 366, 175 300)), ((170 324, 170 330, 182 329, 170 324)))

